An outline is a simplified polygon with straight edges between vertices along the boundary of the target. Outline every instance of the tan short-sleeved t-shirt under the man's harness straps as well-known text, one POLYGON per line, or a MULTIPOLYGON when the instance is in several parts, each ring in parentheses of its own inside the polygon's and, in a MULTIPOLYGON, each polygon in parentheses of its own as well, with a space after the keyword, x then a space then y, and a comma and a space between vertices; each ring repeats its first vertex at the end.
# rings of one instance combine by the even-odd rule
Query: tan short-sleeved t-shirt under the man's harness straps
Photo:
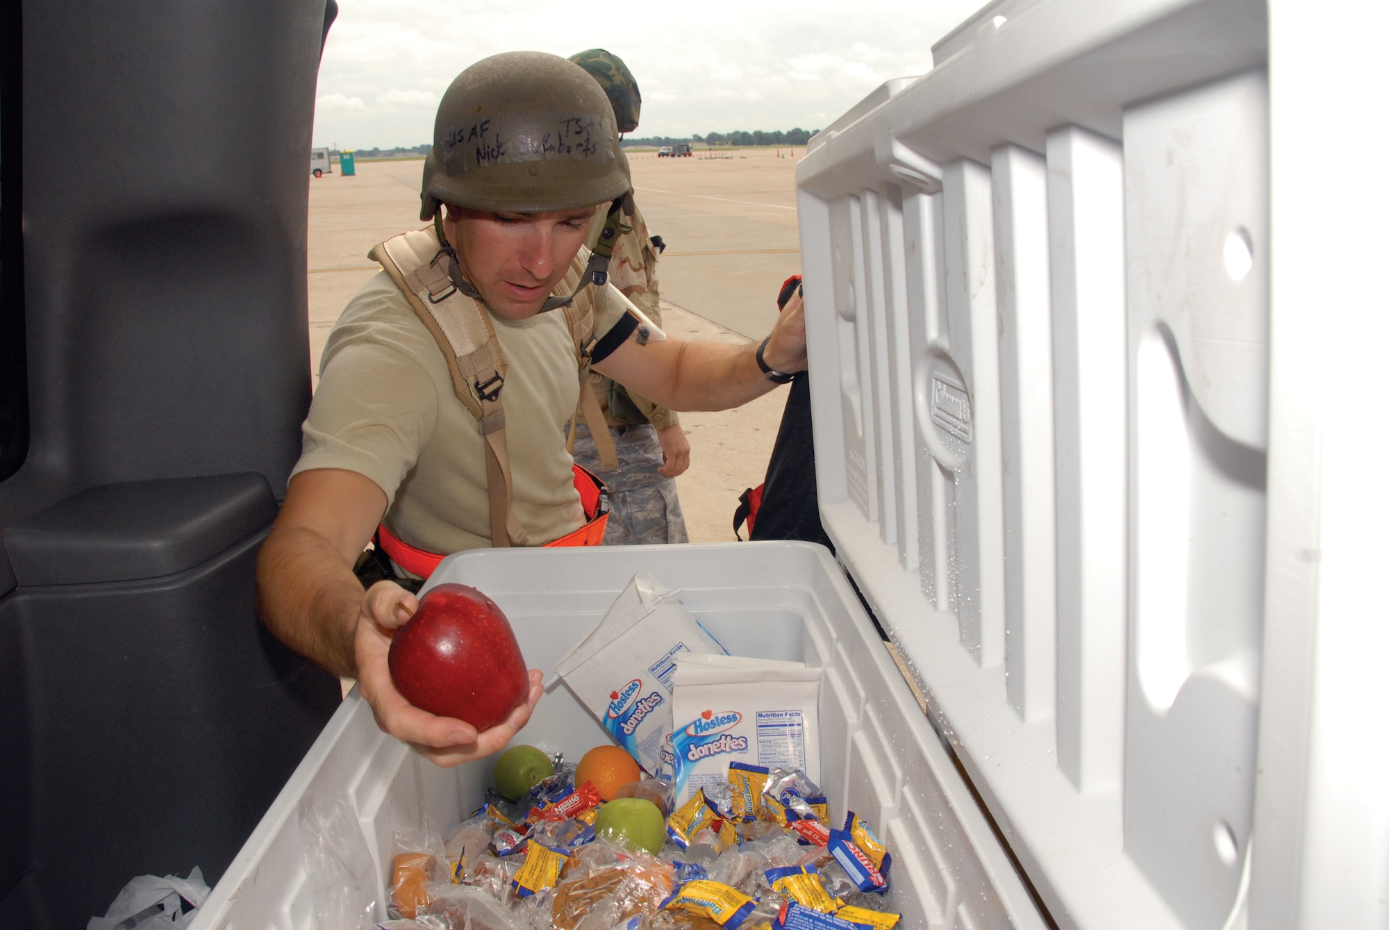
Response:
MULTIPOLYGON (((615 291, 614 291, 615 293, 615 291)), ((625 314, 600 300, 594 336, 625 314)), ((492 315, 507 361, 513 512, 532 544, 583 525, 564 426, 579 401, 578 362, 563 311, 514 322, 492 315)), ((343 310, 319 362, 293 475, 342 468, 386 491, 386 527, 432 552, 492 544, 485 440, 453 393, 439 344, 382 272, 343 310)))

